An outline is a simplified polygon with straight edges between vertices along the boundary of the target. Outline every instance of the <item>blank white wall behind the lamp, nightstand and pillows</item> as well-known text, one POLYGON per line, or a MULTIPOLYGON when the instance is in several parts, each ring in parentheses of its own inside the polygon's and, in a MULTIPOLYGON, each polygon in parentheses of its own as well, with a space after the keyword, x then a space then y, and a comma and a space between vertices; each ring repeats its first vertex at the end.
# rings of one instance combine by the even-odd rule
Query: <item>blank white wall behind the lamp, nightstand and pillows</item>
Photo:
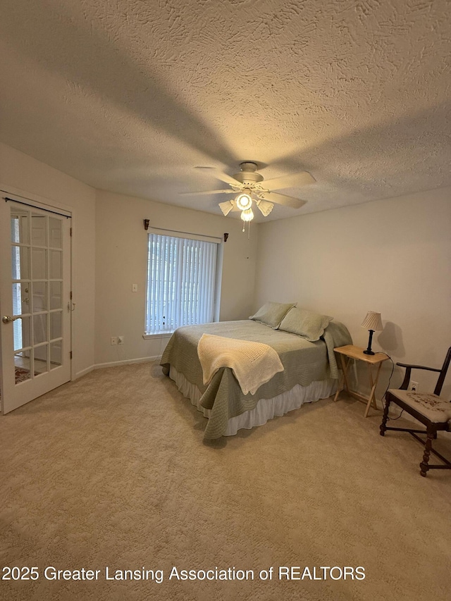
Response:
MULTIPOLYGON (((373 349, 441 367, 451 345, 451 188, 263 223, 257 256, 254 309, 298 301, 345 323, 361 347, 366 311, 378 311, 385 327, 373 349)), ((426 372, 414 376, 426 390, 426 372)), ((451 373, 443 392, 450 397, 451 373)))

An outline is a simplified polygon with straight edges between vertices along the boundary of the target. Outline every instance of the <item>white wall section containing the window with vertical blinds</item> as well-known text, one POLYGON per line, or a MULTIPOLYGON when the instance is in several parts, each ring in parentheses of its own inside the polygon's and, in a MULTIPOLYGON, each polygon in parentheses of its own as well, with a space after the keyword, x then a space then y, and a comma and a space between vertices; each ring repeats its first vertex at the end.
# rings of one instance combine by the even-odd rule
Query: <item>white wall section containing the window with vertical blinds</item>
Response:
POLYGON ((148 235, 143 219, 155 228, 223 237, 221 321, 247 318, 254 295, 258 226, 248 240, 242 221, 168 206, 145 199, 98 191, 96 202, 96 364, 156 357, 167 339, 144 340, 148 235), (138 292, 132 292, 132 284, 138 292), (111 336, 125 344, 111 346, 111 336))

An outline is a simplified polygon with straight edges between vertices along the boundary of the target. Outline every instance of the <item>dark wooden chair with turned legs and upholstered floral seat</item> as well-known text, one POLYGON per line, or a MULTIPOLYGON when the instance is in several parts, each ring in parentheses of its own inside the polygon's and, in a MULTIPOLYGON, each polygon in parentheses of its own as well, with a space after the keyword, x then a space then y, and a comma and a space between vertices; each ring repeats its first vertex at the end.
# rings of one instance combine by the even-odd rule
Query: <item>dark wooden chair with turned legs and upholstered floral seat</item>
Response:
POLYGON ((447 369, 450 366, 450 361, 451 347, 448 349, 445 362, 441 369, 425 367, 424 365, 397 363, 397 365, 406 369, 404 381, 399 390, 394 388, 390 389, 385 395, 385 409, 381 423, 381 436, 385 435, 385 430, 399 430, 401 432, 409 432, 416 440, 419 440, 424 445, 423 461, 421 461, 420 464, 421 476, 426 476, 428 469, 451 469, 451 462, 432 448, 432 441, 434 438, 437 438, 438 430, 451 431, 451 402, 447 402, 439 396, 443 387, 443 382, 445 381, 447 369), (412 369, 426 369, 428 371, 437 371, 440 374, 432 395, 407 390, 407 388, 409 388, 410 373, 412 369), (404 411, 407 411, 407 413, 414 416, 415 419, 426 426, 426 430, 387 426, 388 408, 390 407, 390 403, 397 404, 404 409, 404 411), (420 438, 418 434, 426 434, 426 440, 420 438), (443 464, 430 465, 429 455, 431 453, 435 454, 436 457, 443 461, 443 464))

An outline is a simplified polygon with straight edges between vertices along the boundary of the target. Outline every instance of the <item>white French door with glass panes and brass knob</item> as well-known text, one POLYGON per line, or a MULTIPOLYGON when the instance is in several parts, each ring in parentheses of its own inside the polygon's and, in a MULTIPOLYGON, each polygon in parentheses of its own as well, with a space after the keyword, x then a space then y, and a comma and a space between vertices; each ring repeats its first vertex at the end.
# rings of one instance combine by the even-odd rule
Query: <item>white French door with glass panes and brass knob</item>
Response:
POLYGON ((70 221, 0 199, 4 414, 70 380, 70 221))

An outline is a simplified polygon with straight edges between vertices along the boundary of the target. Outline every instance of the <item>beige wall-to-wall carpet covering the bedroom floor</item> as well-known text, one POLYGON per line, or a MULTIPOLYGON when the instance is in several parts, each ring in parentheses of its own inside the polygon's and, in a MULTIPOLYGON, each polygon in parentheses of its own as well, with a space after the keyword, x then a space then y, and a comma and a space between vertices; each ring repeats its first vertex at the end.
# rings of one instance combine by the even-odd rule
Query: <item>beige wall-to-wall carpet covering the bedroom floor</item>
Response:
MULTIPOLYGON (((451 471, 325 399, 206 445, 205 420, 152 364, 89 373, 0 419, 2 600, 416 600, 450 595, 451 471), (49 581, 46 566, 99 570, 49 581), (163 582, 106 581, 116 569, 163 582), (171 568, 253 570, 169 580, 171 568), (259 578, 273 566, 271 581, 259 578), (278 566, 363 566, 363 581, 280 581, 278 566)), ((449 439, 439 441, 448 452, 449 439)), ((334 576, 339 571, 335 570, 334 576)))

